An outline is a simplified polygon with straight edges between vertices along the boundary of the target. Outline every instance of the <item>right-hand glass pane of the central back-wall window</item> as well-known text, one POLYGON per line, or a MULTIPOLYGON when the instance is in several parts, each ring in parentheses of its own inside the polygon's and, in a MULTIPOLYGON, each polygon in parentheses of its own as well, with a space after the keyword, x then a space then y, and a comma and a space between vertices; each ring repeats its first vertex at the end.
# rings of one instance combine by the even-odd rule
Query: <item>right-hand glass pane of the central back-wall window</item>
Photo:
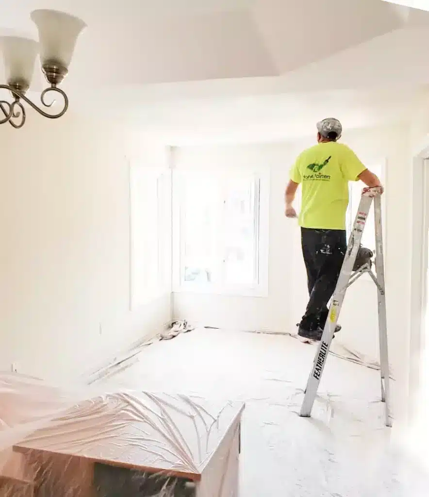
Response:
POLYGON ((257 283, 257 194, 254 178, 227 181, 224 201, 224 277, 227 285, 257 283))

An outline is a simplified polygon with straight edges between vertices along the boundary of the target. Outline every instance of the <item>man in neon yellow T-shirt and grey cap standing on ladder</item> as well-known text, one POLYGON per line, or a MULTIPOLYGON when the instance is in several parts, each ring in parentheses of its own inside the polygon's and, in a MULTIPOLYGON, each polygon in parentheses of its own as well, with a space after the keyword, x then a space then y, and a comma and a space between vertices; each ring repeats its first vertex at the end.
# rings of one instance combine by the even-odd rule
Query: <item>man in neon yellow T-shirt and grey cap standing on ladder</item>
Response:
MULTIPOLYGON (((296 218, 292 204, 302 183, 298 222, 310 299, 298 325, 298 335, 311 340, 322 338, 328 302, 337 285, 347 248, 348 182, 360 179, 368 187, 381 187, 378 177, 354 152, 338 143, 343 131, 338 119, 320 121, 317 131, 318 144, 298 156, 290 170, 285 194, 286 217, 296 218)), ((337 326, 335 331, 340 329, 337 326)))

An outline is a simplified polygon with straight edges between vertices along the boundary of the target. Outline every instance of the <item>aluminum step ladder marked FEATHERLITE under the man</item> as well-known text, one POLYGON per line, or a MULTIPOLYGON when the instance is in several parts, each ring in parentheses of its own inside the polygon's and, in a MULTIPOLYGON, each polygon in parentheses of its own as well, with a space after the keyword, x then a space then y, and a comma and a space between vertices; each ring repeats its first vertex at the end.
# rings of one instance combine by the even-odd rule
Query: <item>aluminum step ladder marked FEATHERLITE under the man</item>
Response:
POLYGON ((331 300, 328 319, 326 320, 325 329, 322 339, 314 358, 313 367, 308 378, 305 389, 304 400, 301 406, 300 416, 310 417, 313 404, 316 399, 319 383, 325 368, 331 342, 334 336, 334 330, 337 325, 341 307, 343 305, 344 295, 347 288, 356 281, 362 274, 369 273, 378 289, 378 329, 380 338, 380 373, 381 373, 381 400, 385 404, 385 424, 392 426, 392 416, 390 411, 390 373, 389 357, 387 346, 387 322, 386 322, 386 297, 384 291, 384 262, 383 262, 383 237, 381 224, 381 190, 376 188, 364 188, 360 199, 358 211, 353 224, 353 230, 347 245, 347 251, 344 256, 343 266, 340 277, 337 282, 334 295, 331 300), (353 272, 353 265, 356 260, 357 251, 360 247, 362 232, 365 228, 368 213, 371 205, 374 203, 375 219, 375 272, 371 270, 370 263, 365 264, 357 271, 353 272))

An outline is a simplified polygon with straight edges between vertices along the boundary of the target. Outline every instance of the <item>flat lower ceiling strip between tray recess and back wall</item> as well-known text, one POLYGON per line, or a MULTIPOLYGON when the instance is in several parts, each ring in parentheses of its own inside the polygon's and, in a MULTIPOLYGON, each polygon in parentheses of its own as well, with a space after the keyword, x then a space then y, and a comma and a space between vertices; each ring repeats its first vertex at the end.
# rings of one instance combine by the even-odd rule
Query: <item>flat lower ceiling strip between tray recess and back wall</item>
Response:
MULTIPOLYGON (((100 94, 99 102, 106 95, 100 94)), ((407 118, 414 96, 411 97, 408 91, 382 89, 194 96, 151 101, 127 92, 121 102, 129 108, 130 122, 146 137, 183 146, 289 141, 315 136, 315 123, 332 115, 347 129, 387 124, 407 118)), ((123 113, 120 109, 110 109, 108 117, 119 120, 123 113)))

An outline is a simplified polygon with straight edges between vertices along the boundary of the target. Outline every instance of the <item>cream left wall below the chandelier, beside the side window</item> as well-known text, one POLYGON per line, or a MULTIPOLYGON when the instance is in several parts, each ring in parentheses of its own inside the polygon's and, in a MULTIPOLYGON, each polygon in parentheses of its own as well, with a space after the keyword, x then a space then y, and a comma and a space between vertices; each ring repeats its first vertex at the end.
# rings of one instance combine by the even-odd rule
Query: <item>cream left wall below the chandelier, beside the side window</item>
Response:
POLYGON ((160 331, 170 293, 129 311, 126 156, 165 150, 71 111, 1 126, 0 150, 0 369, 68 377, 160 331))

